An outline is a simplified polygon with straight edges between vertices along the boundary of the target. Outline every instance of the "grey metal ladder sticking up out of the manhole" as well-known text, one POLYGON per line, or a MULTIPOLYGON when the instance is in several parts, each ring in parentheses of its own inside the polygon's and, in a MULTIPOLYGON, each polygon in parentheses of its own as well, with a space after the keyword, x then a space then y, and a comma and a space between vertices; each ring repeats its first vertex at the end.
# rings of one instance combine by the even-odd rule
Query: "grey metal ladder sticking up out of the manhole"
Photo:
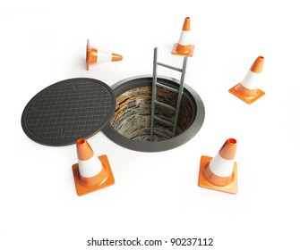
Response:
POLYGON ((173 137, 176 136, 176 128, 177 128, 177 121, 178 121, 178 116, 179 116, 179 110, 180 110, 180 104, 181 104, 181 99, 184 93, 184 77, 185 77, 185 69, 186 69, 186 63, 187 63, 187 56, 184 56, 184 63, 183 63, 183 68, 176 68, 170 65, 167 65, 165 63, 159 63, 158 62, 158 47, 154 48, 154 58, 153 58, 153 79, 152 79, 152 101, 151 101, 151 117, 150 117, 150 141, 153 141, 153 136, 154 136, 154 124, 155 121, 159 121, 161 123, 167 124, 170 127, 173 127, 173 137), (174 88, 174 87, 169 87, 163 83, 158 82, 158 65, 168 68, 173 71, 179 71, 181 72, 181 78, 180 78, 180 85, 179 88, 174 88), (177 96, 177 102, 176 102, 176 108, 173 107, 172 105, 165 104, 162 102, 159 102, 157 100, 157 87, 164 87, 170 91, 178 93, 177 96), (164 119, 161 119, 159 116, 155 115, 155 104, 164 106, 168 109, 171 109, 175 111, 175 117, 173 122, 172 121, 166 121, 164 119))

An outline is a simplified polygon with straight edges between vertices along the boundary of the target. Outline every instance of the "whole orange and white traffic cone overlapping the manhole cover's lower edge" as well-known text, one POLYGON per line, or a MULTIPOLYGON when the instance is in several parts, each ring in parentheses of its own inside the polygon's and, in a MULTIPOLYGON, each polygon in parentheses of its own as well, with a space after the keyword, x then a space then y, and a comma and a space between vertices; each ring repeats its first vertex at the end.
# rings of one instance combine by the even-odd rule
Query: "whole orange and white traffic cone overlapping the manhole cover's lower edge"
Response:
POLYGON ((115 183, 107 155, 94 155, 85 139, 76 142, 78 163, 73 164, 73 176, 78 196, 89 194, 115 183))

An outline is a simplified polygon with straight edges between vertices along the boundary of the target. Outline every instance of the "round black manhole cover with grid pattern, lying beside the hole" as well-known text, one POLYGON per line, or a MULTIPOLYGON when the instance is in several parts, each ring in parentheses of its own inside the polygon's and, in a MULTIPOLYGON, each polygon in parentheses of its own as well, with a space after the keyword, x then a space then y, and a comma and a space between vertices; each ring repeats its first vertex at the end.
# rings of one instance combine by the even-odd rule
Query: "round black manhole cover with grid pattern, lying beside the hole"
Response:
POLYGON ((65 79, 41 90, 26 105, 21 126, 32 140, 64 146, 103 129, 116 109, 114 92, 97 79, 65 79))

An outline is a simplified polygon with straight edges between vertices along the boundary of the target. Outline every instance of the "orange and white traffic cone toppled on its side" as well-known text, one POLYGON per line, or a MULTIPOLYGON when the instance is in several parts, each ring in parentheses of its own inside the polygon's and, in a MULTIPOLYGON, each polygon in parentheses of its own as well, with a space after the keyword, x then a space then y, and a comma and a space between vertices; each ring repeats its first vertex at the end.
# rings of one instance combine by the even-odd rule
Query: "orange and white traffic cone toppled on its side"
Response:
POLYGON ((91 63, 105 63, 105 62, 116 62, 122 61, 123 57, 120 54, 98 52, 97 48, 90 46, 90 40, 87 41, 86 51, 86 66, 87 71, 91 63))

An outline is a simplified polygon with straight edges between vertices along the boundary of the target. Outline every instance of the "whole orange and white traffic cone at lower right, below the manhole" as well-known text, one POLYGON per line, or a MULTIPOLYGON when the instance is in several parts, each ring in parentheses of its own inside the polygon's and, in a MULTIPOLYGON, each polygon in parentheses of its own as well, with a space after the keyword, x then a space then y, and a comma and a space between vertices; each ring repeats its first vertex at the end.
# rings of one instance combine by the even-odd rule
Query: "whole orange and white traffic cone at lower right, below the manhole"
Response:
POLYGON ((236 139, 229 138, 215 157, 201 156, 199 187, 237 193, 236 139))

